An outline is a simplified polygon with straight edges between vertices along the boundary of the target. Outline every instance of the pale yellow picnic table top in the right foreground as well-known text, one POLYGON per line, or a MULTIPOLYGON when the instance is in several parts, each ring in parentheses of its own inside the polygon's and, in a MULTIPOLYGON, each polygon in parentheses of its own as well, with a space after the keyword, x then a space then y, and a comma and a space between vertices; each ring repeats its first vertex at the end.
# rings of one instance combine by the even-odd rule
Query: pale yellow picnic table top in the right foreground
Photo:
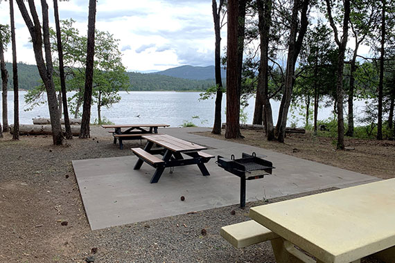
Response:
POLYGON ((256 206, 249 217, 323 262, 395 246, 395 179, 256 206))

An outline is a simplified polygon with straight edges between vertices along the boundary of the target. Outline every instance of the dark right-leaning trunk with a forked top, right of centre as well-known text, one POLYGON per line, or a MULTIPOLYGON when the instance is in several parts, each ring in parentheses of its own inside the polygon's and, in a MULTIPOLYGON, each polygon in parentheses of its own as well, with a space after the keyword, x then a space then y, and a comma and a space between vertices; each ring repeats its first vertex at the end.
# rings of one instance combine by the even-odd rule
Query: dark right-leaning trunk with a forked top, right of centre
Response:
POLYGON ((284 142, 284 138, 286 137, 286 125, 288 118, 288 110, 291 103, 292 97, 292 89, 293 84, 295 82, 295 64, 297 57, 300 53, 301 44, 304 39, 304 35, 308 26, 307 19, 307 10, 308 10, 309 0, 295 0, 294 7, 292 8, 292 22, 291 22, 291 30, 290 30, 290 42, 288 46, 288 58, 287 58, 287 68, 286 68, 286 84, 284 87, 283 94, 283 109, 281 115, 279 115, 280 126, 278 129, 278 140, 280 143, 284 142), (301 24, 299 29, 299 35, 297 37, 297 29, 298 29, 298 13, 301 8, 301 24))

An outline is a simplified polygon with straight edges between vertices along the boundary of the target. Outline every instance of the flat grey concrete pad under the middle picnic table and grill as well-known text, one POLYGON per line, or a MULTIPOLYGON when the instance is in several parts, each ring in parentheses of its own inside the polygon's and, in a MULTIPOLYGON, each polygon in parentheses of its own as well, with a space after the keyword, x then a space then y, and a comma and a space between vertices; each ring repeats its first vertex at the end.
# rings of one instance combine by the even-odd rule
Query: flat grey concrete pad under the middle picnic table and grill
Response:
MULTIPOLYGON (((159 132, 215 148, 204 151, 215 156, 229 158, 234 154, 240 158, 242 152, 267 155, 267 160, 272 161, 276 169, 263 179, 247 181, 246 201, 378 180, 267 149, 187 134, 186 131, 194 129, 167 128, 159 132)), ((150 165, 144 163, 140 170, 133 170, 137 157, 132 151, 130 156, 73 161, 73 168, 89 224, 94 230, 240 203, 240 179, 218 167, 215 161, 206 165, 211 176, 202 176, 197 165, 188 165, 175 167, 172 174, 167 168, 158 183, 150 183, 155 172, 150 165), (181 196, 185 201, 180 200, 181 196)))

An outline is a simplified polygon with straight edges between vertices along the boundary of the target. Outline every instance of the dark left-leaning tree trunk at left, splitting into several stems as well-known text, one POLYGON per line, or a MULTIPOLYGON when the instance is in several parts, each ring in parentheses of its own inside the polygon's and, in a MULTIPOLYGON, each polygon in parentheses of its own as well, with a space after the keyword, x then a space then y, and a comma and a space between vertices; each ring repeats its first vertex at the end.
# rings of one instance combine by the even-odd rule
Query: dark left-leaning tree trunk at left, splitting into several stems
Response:
POLYGON ((41 0, 42 6, 42 32, 40 19, 38 18, 35 8, 34 0, 28 0, 31 17, 23 0, 17 0, 19 10, 24 18, 26 26, 30 32, 33 42, 33 50, 35 52, 35 60, 40 77, 44 82, 46 89, 46 96, 48 99, 49 116, 51 118, 52 138, 54 145, 62 145, 63 135, 60 127, 60 116, 58 112, 58 100, 56 98, 55 85, 53 84, 53 65, 51 56, 51 44, 49 42, 49 18, 48 18, 48 5, 45 0, 41 0), (45 62, 42 53, 42 46, 44 42, 45 62))

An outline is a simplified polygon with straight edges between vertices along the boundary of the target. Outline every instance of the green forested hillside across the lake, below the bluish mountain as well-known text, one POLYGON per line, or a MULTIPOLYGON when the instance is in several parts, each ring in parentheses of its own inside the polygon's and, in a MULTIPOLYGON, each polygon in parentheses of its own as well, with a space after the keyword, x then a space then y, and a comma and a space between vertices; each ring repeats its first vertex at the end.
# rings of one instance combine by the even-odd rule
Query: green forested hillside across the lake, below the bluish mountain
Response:
MULTIPOLYGON (((12 89, 12 64, 6 63, 8 89, 12 89)), ((215 84, 214 80, 187 80, 167 75, 128 72, 130 91, 202 91, 215 84)), ((37 66, 18 63, 19 89, 33 89, 40 85, 37 66)))

